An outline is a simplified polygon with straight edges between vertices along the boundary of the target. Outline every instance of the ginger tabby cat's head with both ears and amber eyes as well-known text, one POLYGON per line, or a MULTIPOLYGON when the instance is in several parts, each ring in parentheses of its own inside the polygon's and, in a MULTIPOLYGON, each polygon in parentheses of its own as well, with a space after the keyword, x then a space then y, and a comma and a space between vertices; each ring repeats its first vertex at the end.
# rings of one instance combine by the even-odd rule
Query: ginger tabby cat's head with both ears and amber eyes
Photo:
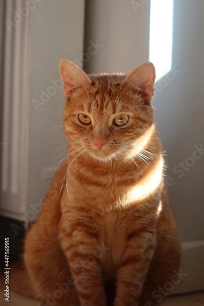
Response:
POLYGON ((66 103, 64 133, 69 143, 107 160, 142 146, 154 125, 151 98, 155 67, 144 63, 130 74, 87 75, 61 60, 66 103))

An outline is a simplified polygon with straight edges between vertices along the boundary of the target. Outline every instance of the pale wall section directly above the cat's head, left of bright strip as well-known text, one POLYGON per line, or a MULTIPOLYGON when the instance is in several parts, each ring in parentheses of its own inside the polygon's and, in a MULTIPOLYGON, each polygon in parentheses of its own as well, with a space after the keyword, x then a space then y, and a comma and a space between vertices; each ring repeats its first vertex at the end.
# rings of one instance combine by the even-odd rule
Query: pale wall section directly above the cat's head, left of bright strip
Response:
POLYGON ((85 71, 130 72, 148 60, 148 33, 149 3, 141 5, 136 13, 131 1, 87 0, 84 51, 90 40, 104 46, 85 62, 85 71))

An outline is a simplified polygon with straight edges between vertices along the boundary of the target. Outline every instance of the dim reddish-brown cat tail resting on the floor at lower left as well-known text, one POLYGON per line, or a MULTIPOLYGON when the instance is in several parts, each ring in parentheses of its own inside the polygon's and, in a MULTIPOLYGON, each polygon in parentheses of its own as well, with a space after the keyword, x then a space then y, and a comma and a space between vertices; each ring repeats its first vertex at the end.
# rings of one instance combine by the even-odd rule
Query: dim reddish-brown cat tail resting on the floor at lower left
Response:
POLYGON ((10 290, 26 297, 35 298, 35 290, 25 266, 22 262, 11 265, 10 269, 10 290))

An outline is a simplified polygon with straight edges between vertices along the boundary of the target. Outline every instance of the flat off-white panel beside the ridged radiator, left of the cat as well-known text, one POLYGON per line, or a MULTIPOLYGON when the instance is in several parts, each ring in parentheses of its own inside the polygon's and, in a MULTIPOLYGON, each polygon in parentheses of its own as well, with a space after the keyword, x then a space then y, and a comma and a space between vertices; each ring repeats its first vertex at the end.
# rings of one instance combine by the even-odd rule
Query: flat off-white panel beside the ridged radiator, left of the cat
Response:
MULTIPOLYGON (((33 99, 40 100, 41 90, 49 92, 49 86, 53 86, 50 80, 60 79, 60 59, 73 61, 83 53, 84 0, 43 0, 33 11, 31 39, 28 203, 35 205, 46 195, 49 185, 49 180, 42 178, 43 168, 53 167, 66 156, 57 158, 65 151, 66 147, 58 149, 66 140, 62 127, 48 132, 63 123, 63 89, 56 89, 56 94, 49 95, 49 100, 40 105, 38 111, 33 99)), ((50 177, 55 168, 45 174, 50 177)))

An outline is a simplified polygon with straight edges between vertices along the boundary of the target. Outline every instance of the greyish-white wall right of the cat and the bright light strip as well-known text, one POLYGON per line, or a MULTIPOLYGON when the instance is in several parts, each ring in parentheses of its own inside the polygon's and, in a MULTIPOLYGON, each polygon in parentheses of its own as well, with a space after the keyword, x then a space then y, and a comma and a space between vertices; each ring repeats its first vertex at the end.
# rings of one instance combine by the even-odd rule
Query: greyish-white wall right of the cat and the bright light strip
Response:
MULTIPOLYGON (((204 156, 191 163, 194 146, 204 147, 204 2, 174 1, 173 58, 181 70, 155 100, 156 120, 168 154, 172 206, 184 241, 204 240, 204 156), (179 177, 179 175, 183 175, 179 177)), ((196 154, 199 157, 199 153, 196 154)))

